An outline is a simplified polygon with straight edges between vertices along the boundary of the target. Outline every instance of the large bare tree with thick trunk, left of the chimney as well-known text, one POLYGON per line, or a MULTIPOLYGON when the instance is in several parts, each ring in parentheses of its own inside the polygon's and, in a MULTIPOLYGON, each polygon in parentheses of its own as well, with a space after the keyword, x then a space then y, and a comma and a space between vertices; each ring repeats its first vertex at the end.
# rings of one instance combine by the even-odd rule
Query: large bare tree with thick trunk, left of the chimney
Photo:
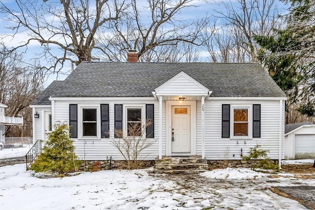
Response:
POLYGON ((66 60, 79 64, 97 59, 92 53, 100 49, 95 34, 100 28, 108 30, 109 22, 118 20, 127 6, 124 0, 16 0, 13 7, 8 5, 0 2, 12 30, 6 35, 13 39, 27 33, 27 39, 11 51, 38 43, 42 51, 37 58, 50 61, 46 69, 53 71, 59 71, 66 60))

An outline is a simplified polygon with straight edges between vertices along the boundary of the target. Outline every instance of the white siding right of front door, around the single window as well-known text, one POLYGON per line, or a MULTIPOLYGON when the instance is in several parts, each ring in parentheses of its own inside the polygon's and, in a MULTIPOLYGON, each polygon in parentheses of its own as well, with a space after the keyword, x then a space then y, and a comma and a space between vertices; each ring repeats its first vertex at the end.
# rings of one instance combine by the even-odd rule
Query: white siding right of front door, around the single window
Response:
MULTIPOLYGON (((201 155, 201 105, 197 101, 197 155, 201 155)), ((279 153, 279 110, 276 100, 205 100, 205 157, 220 160, 225 155, 230 160, 239 160, 247 155, 256 144, 269 150, 271 159, 278 159, 279 153), (252 139, 221 138, 222 104, 261 104, 261 137, 252 139), (233 156, 234 155, 234 156, 233 156)), ((252 127, 249 127, 252 129, 252 127)))

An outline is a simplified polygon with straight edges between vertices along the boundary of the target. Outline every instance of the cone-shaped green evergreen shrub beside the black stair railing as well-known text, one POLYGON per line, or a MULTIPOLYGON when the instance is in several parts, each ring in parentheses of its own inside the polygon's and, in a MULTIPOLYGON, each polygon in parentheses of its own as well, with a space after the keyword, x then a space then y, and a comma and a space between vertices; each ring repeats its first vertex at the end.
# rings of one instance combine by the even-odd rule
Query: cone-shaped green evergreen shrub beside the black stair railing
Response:
POLYGON ((63 177, 77 171, 80 162, 74 153, 73 140, 69 137, 69 126, 58 124, 48 135, 42 153, 32 163, 30 169, 63 177))

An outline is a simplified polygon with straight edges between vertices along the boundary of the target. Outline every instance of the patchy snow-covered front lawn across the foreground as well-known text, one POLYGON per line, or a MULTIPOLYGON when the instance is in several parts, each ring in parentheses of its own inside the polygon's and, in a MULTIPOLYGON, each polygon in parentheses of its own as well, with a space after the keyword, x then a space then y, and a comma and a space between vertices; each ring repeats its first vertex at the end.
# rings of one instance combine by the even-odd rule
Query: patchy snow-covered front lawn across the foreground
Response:
POLYGON ((315 179, 244 168, 159 176, 115 170, 49 179, 31 173, 24 164, 0 167, 0 210, 303 210, 269 187, 315 186, 315 179))

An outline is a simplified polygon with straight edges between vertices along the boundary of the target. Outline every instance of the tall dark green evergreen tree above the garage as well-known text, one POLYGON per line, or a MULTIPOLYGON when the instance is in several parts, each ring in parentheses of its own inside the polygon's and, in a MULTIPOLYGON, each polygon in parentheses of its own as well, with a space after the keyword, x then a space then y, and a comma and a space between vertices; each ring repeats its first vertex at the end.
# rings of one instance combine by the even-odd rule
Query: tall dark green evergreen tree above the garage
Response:
POLYGON ((261 46, 259 61, 302 115, 315 116, 315 2, 288 0, 284 29, 273 36, 254 36, 261 46))

